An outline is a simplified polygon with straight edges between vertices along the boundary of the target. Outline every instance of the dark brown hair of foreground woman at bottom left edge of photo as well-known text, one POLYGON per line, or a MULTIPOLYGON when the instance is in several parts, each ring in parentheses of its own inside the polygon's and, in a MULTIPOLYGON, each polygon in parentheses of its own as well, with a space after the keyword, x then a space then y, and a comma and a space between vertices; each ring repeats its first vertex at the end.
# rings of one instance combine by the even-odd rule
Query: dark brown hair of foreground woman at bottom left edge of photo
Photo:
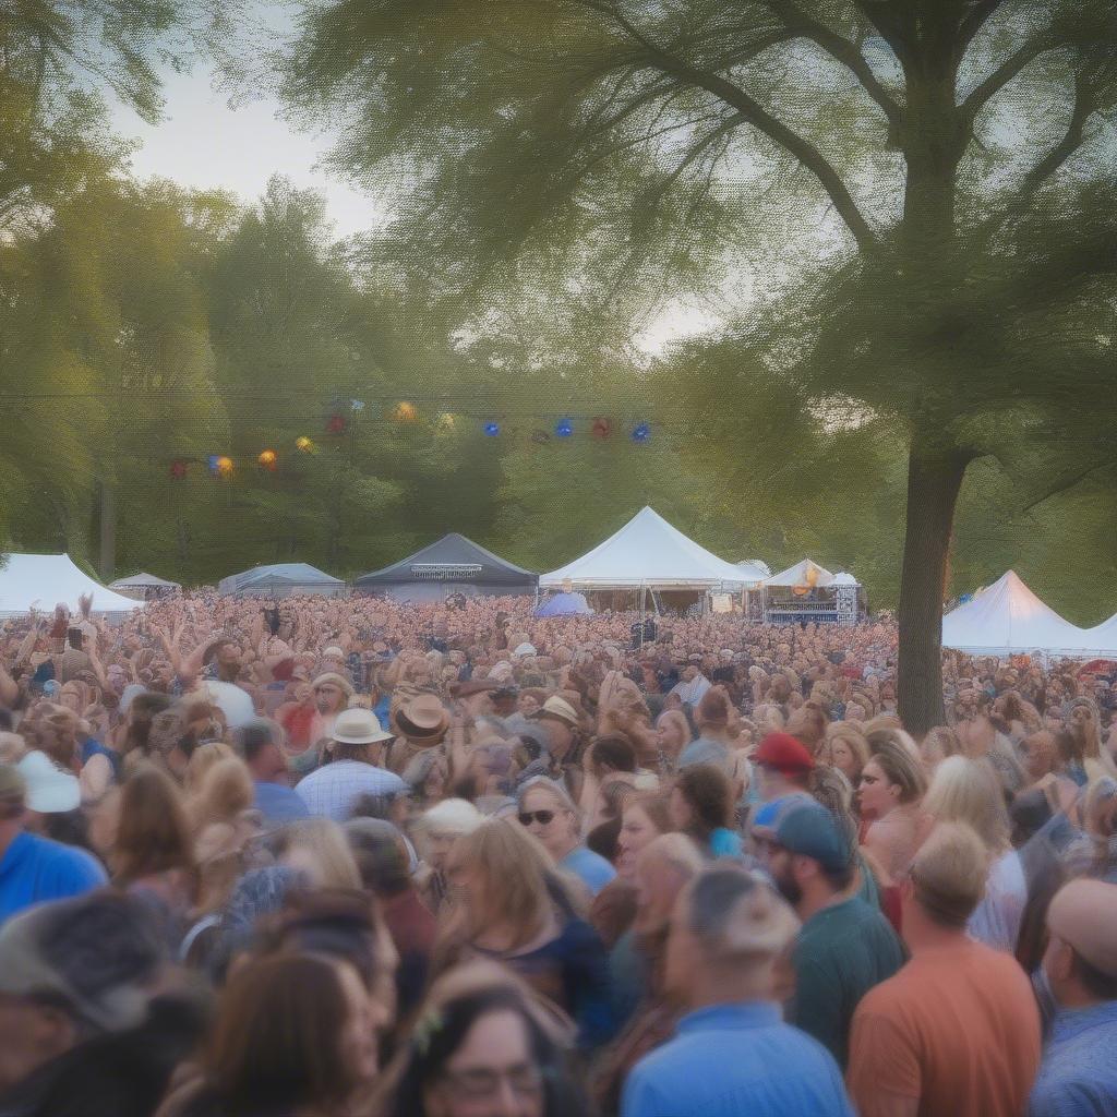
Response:
POLYGON ((203 1056, 229 1110, 344 1109, 360 1085, 341 1042, 350 1011, 338 973, 344 964, 279 954, 229 982, 203 1056))

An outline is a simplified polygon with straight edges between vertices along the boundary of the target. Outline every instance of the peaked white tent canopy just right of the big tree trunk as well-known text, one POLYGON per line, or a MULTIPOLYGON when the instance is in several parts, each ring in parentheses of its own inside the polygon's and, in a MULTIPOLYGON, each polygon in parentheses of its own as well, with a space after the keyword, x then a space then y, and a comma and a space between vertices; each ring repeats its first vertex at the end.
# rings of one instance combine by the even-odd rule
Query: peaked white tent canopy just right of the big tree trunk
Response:
POLYGON ((1011 570, 943 618, 943 647, 978 656, 1076 656, 1092 650, 1090 633, 1043 604, 1011 570))

